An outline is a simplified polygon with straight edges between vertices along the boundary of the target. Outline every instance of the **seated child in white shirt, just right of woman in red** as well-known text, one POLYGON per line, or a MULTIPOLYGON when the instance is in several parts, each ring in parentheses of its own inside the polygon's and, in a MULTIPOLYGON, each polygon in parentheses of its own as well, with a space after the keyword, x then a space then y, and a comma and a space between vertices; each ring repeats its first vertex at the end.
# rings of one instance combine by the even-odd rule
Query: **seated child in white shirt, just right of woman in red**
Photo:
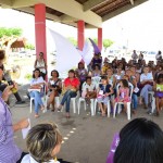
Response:
POLYGON ((86 99, 86 102, 90 102, 90 99, 97 97, 96 84, 91 82, 91 77, 86 77, 86 83, 83 84, 82 97, 86 99))

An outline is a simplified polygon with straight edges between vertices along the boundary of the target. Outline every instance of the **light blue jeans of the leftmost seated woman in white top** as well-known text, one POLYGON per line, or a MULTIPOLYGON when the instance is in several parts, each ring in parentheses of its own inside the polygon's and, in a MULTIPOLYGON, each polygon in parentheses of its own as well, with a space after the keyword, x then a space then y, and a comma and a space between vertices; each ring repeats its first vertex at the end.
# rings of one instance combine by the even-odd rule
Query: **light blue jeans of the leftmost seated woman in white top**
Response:
POLYGON ((35 113, 38 114, 39 105, 43 105, 43 102, 41 100, 41 97, 43 97, 43 92, 39 91, 32 91, 30 98, 34 98, 35 100, 35 113))

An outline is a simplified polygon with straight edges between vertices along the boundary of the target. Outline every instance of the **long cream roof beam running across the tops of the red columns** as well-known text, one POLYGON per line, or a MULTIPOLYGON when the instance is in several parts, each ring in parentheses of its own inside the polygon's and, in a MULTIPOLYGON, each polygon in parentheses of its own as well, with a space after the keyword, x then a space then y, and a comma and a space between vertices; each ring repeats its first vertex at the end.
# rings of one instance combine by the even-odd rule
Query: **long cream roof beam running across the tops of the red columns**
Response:
POLYGON ((18 9, 24 7, 32 7, 37 3, 45 3, 51 9, 60 11, 76 20, 83 20, 84 22, 96 27, 102 26, 102 18, 98 14, 92 11, 84 12, 83 5, 75 0, 14 0, 12 8, 18 9))

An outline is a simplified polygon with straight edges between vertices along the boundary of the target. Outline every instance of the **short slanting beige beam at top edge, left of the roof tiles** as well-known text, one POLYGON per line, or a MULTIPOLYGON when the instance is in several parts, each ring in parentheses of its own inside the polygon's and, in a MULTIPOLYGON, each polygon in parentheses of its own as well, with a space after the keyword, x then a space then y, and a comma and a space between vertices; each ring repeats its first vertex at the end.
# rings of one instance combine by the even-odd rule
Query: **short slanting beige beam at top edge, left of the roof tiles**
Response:
POLYGON ((95 7, 105 2, 106 0, 88 0, 84 3, 84 11, 93 9, 95 7))

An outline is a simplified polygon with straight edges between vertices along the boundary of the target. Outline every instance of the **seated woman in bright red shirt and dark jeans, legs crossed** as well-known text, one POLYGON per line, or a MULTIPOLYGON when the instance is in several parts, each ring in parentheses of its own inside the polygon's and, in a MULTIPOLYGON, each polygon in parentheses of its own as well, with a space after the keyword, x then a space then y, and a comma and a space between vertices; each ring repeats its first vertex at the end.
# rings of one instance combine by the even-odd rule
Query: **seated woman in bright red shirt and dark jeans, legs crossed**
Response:
POLYGON ((77 91, 79 89, 79 79, 75 77, 75 71, 70 70, 68 71, 68 77, 65 78, 63 83, 63 99, 61 101, 60 106, 58 110, 60 111, 62 106, 64 105, 64 102, 66 102, 66 117, 70 118, 70 104, 71 104, 71 98, 75 98, 77 96, 77 91))

